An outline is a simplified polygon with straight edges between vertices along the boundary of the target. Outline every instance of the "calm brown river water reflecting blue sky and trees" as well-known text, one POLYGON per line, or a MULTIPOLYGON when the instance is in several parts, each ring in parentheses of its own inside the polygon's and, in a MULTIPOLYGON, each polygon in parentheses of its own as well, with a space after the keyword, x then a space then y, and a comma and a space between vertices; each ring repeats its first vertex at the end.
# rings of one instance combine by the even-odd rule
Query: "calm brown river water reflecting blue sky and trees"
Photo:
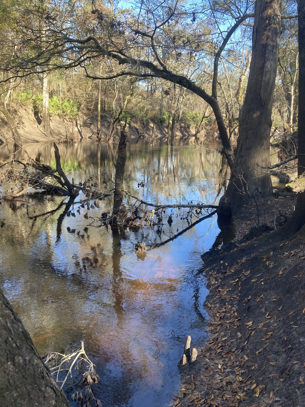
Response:
MULTIPOLYGON (((54 165, 52 144, 25 150, 54 165)), ((92 177, 98 189, 113 188, 113 149, 85 141, 59 151, 70 180, 92 177)), ((15 158, 24 156, 19 151, 15 158)), ((2 146, 0 161, 9 159, 2 146)), ((215 203, 220 165, 220 153, 205 147, 129 146, 125 189, 154 203, 215 203)), ((112 197, 100 208, 82 207, 82 198, 0 201, 0 284, 40 355, 68 354, 84 341, 103 406, 168 406, 179 391, 186 337, 197 348, 206 340, 200 255, 219 233, 216 216, 158 246, 188 226, 186 211, 167 210, 159 227, 112 232, 99 221, 112 197), (137 242, 154 248, 139 256, 137 242)), ((129 197, 126 205, 134 202, 129 197)))

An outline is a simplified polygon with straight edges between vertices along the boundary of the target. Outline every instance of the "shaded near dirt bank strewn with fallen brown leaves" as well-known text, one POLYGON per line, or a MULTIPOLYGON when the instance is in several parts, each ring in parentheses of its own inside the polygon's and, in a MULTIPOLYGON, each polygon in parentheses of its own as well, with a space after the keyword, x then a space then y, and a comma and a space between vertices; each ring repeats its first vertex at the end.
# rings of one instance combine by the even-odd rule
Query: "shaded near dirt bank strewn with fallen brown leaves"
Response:
POLYGON ((278 228, 293 202, 254 202, 236 222, 235 241, 203 255, 210 337, 182 372, 174 406, 305 405, 305 232, 241 238, 258 215, 278 228))

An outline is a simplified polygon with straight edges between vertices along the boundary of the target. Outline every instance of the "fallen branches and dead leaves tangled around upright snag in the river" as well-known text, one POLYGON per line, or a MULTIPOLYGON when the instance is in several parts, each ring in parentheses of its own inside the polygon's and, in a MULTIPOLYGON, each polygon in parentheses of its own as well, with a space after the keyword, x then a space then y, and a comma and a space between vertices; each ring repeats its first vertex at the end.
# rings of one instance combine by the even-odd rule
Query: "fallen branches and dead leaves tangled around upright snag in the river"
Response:
MULTIPOLYGON (((166 242, 175 239, 175 237, 180 236, 201 220, 215 214, 215 210, 218 208, 215 202, 212 205, 205 205, 202 202, 194 203, 193 201, 187 203, 169 202, 166 204, 158 204, 140 199, 123 189, 125 175, 124 160, 126 159, 127 143, 124 136, 125 133, 122 131, 116 162, 115 181, 105 173, 105 178, 111 181, 109 187, 107 187, 107 182, 105 180, 103 181, 104 187, 106 185, 105 190, 99 189, 98 183, 94 181, 93 177, 79 184, 75 184, 73 179, 70 181, 60 164, 58 148, 56 144, 53 143, 55 156, 54 167, 32 159, 24 150, 26 159, 13 159, 0 166, 0 182, 5 181, 11 184, 14 182, 14 186, 5 191, 0 198, 7 201, 16 200, 16 198, 22 195, 33 193, 33 189, 46 195, 68 196, 68 203, 64 200, 54 209, 49 209, 40 214, 35 213, 34 215, 27 213, 29 219, 36 220, 38 217, 48 216, 57 212, 65 205, 64 212, 60 215, 60 218, 58 218, 57 238, 59 238, 61 234, 61 224, 64 217, 75 217, 81 213, 82 209, 87 209, 83 216, 85 219, 90 220, 88 224, 90 226, 110 224, 112 227, 129 227, 134 230, 143 227, 150 229, 156 227, 155 231, 159 237, 161 237, 161 234, 164 232, 164 226, 168 225, 170 228, 175 218, 186 221, 187 227, 179 232, 177 229, 176 234, 173 235, 173 230, 169 230, 169 238, 166 242), (76 202, 75 197, 80 193, 82 196, 76 202), (127 199, 123 203, 124 195, 127 199), (100 216, 90 216, 88 213, 90 209, 100 208, 100 201, 104 200, 106 196, 113 196, 113 210, 105 210, 100 216), (169 211, 167 211, 168 209, 169 211), (175 209, 177 211, 174 213, 173 210, 175 209)), ((155 247, 155 245, 153 245, 153 247, 155 247)))

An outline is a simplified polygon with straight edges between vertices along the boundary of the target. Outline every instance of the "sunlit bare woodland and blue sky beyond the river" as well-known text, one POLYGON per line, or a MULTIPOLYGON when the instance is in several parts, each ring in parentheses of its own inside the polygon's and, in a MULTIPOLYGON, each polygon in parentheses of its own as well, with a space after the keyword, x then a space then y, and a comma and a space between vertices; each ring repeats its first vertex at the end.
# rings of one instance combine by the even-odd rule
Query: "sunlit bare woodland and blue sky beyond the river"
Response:
MULTIPOLYGON (((188 78, 207 94, 214 96, 212 87, 217 84, 228 137, 236 146, 252 54, 254 2, 167 3, 3 4, 0 138, 10 139, 13 132, 19 139, 19 132, 25 140, 31 134, 112 142, 126 120, 130 134, 149 143, 220 141, 211 106, 192 90, 156 77, 148 68, 133 67, 138 77, 129 76, 127 69, 122 73, 120 61, 104 51, 63 43, 67 35, 77 39, 95 35, 103 46, 112 42, 114 49, 131 49, 139 60, 158 60, 160 55, 168 71, 188 78), (151 41, 147 37, 153 32, 152 47, 145 40, 151 41)), ((282 18, 272 131, 291 138, 298 109, 297 19, 291 18, 296 15, 294 2, 283 6, 287 18, 282 18)))

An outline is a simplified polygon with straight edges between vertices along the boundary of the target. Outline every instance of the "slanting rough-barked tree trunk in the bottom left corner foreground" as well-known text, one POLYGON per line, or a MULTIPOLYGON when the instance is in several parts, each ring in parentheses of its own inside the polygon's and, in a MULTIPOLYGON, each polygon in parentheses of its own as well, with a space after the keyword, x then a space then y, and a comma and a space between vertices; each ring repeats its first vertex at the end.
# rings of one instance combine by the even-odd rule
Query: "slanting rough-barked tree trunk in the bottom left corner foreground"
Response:
POLYGON ((68 407, 32 339, 0 289, 0 399, 1 405, 68 407))

